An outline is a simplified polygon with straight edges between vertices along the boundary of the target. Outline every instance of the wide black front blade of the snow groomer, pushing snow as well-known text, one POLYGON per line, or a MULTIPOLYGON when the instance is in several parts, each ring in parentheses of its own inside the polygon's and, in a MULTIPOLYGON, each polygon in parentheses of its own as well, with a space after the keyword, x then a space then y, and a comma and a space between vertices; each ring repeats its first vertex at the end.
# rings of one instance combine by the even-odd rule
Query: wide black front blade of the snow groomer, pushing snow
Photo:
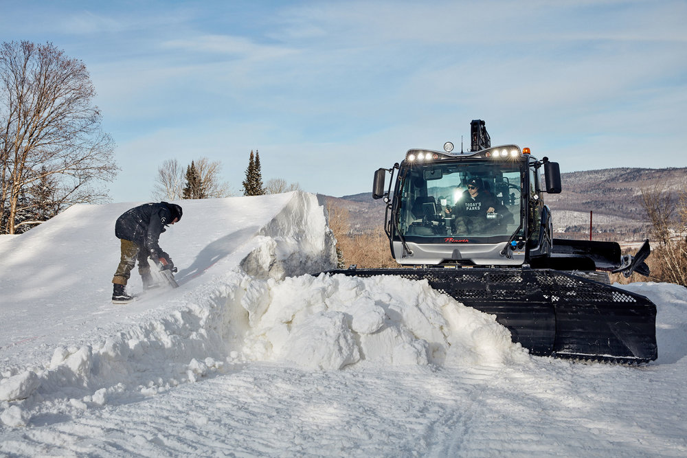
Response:
POLYGON ((656 306, 646 297, 572 273, 521 268, 377 268, 328 271, 423 280, 495 314, 538 356, 647 363, 657 358, 656 306))

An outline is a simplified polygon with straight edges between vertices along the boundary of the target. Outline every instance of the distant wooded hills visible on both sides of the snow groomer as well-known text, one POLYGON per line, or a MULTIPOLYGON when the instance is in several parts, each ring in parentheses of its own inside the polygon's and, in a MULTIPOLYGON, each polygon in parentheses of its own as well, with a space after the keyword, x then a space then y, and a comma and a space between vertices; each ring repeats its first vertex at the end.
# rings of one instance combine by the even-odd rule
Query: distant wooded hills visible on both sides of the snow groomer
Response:
MULTIPOLYGON (((642 208, 642 190, 687 190, 687 168, 611 168, 561 174, 563 192, 545 195, 551 207, 554 230, 579 236, 589 232, 589 212, 598 236, 609 240, 646 237, 647 222, 642 208)), ((675 193, 676 194, 676 193, 675 193)), ((383 227, 385 203, 371 192, 340 198, 319 196, 321 203, 348 208, 352 233, 383 227)))

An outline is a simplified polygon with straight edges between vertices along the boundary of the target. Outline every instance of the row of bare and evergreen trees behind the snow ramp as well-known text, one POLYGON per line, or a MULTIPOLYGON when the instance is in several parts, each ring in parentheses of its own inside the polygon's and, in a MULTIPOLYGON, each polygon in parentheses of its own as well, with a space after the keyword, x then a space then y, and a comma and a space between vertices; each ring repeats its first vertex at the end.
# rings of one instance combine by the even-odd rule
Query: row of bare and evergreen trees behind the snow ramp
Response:
MULTIPOLYGON (((23 233, 76 203, 109 201, 117 176, 115 142, 104 133, 85 64, 52 43, 0 45, 0 234, 23 233)), ((185 169, 159 167, 153 197, 232 196, 221 163, 205 157, 185 169)), ((297 190, 283 179, 262 182, 258 151, 250 152, 243 194, 297 190)))

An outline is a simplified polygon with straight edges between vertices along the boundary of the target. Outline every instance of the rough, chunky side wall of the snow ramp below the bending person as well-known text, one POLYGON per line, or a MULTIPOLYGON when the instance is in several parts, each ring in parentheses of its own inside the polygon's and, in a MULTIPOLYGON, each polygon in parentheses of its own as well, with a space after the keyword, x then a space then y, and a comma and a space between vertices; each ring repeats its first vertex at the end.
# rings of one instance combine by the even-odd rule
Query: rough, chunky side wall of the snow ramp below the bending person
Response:
MULTIPOLYGON (((241 264, 253 275, 283 277, 286 272, 322 271, 333 266, 334 240, 322 208, 315 196, 292 194, 259 235, 236 250, 247 252, 241 264), (289 226, 291 231, 282 231, 289 226), (291 242, 291 238, 302 242, 291 242)), ((71 214, 87 211, 84 206, 79 210, 71 214)), ((68 218, 55 218, 58 221, 52 227, 41 229, 51 229, 48 233, 67 230, 68 218)), ((34 243, 41 242, 45 240, 34 243)), ((21 360, 3 361, 2 421, 20 426, 28 420, 26 411, 41 410, 41 404, 67 400, 83 408, 102 405, 107 396, 116 393, 134 389, 149 395, 220 369, 228 356, 224 341, 227 306, 236 303, 234 297, 248 288, 252 279, 235 266, 195 288, 180 288, 181 297, 170 299, 166 292, 161 299, 167 300, 135 317, 137 323, 111 323, 75 338, 74 343, 59 345, 49 362, 23 367, 21 360)))

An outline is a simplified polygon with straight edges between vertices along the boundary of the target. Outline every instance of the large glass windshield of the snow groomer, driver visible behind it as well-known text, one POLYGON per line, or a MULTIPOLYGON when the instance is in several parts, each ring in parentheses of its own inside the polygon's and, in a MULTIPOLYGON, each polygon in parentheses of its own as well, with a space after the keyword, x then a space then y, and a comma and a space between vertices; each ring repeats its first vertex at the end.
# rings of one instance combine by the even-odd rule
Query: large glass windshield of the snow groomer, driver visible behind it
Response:
POLYGON ((413 165, 401 189, 398 229, 438 242, 511 236, 520 225, 521 181, 519 163, 413 165))

